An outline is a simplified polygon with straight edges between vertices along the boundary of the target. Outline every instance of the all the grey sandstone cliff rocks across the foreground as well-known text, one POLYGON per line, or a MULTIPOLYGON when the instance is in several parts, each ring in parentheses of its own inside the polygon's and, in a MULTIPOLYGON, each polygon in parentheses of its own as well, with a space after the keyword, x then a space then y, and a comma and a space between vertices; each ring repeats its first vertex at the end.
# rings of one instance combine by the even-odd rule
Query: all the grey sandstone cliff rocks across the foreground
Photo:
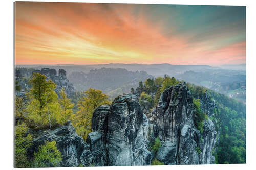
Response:
MULTIPOLYGON (((201 109, 210 117, 215 102, 202 96, 201 109)), ((214 123, 204 121, 203 132, 195 128, 193 97, 185 83, 165 90, 159 103, 147 116, 135 95, 126 94, 111 106, 101 105, 93 113, 92 131, 86 142, 71 124, 46 131, 33 142, 32 151, 47 140, 56 140, 63 155, 61 166, 150 165, 156 157, 164 164, 211 164, 216 143, 214 123), (157 153, 148 151, 159 137, 157 153)))

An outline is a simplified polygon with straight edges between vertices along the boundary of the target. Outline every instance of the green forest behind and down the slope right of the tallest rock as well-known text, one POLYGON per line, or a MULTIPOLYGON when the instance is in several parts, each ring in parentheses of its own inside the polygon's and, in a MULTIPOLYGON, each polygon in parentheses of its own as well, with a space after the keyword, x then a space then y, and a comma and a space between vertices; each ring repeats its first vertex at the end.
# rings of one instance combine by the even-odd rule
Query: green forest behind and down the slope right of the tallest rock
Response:
MULTIPOLYGON (((174 77, 170 78, 167 75, 164 78, 147 79, 144 85, 143 82, 140 82, 137 88, 141 94, 140 104, 145 105, 142 100, 144 99, 149 104, 148 108, 152 109, 157 105, 160 94, 179 82, 174 77)), ((191 83, 186 83, 186 85, 193 94, 194 108, 196 108, 194 114, 197 115, 194 122, 200 132, 202 132, 204 120, 208 117, 202 113, 199 99, 207 93, 216 102, 217 109, 211 118, 219 136, 219 144, 216 145, 218 149, 214 153, 216 163, 246 163, 246 105, 205 87, 191 83)))

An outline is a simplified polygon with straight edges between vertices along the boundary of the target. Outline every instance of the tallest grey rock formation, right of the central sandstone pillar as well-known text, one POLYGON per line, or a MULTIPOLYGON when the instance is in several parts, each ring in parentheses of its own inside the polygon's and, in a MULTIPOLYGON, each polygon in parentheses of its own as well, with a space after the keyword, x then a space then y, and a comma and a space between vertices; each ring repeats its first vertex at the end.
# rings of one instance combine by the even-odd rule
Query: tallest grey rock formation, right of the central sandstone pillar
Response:
MULTIPOLYGON (((209 99, 205 102, 207 100, 203 107, 212 115, 211 103, 209 99)), ((153 111, 156 117, 153 136, 160 138, 161 147, 156 158, 164 164, 214 162, 211 154, 216 141, 214 125, 210 119, 205 120, 203 134, 200 134, 194 126, 193 112, 193 98, 185 83, 172 86, 161 94, 153 111)))

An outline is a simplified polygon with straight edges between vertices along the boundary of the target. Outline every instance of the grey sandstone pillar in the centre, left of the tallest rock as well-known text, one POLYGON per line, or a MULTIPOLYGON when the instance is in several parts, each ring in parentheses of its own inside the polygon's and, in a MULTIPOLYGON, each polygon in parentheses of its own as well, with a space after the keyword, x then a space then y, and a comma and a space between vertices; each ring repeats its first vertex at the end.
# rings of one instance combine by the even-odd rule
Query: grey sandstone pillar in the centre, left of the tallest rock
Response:
POLYGON ((150 164, 151 153, 146 145, 147 118, 132 94, 119 96, 111 106, 98 107, 93 113, 92 129, 94 132, 87 140, 90 148, 93 150, 105 143, 98 152, 92 152, 94 165, 150 164))

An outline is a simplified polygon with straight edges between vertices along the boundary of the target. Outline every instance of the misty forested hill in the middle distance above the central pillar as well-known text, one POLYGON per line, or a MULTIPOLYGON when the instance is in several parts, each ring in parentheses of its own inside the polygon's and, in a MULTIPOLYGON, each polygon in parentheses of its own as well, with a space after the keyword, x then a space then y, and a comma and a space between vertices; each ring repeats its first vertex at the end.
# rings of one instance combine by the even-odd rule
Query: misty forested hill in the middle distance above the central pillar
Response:
POLYGON ((140 81, 153 76, 145 71, 127 71, 122 68, 101 68, 90 70, 89 73, 72 72, 68 79, 77 90, 86 91, 95 88, 109 94, 112 98, 123 93, 129 93, 140 81))

